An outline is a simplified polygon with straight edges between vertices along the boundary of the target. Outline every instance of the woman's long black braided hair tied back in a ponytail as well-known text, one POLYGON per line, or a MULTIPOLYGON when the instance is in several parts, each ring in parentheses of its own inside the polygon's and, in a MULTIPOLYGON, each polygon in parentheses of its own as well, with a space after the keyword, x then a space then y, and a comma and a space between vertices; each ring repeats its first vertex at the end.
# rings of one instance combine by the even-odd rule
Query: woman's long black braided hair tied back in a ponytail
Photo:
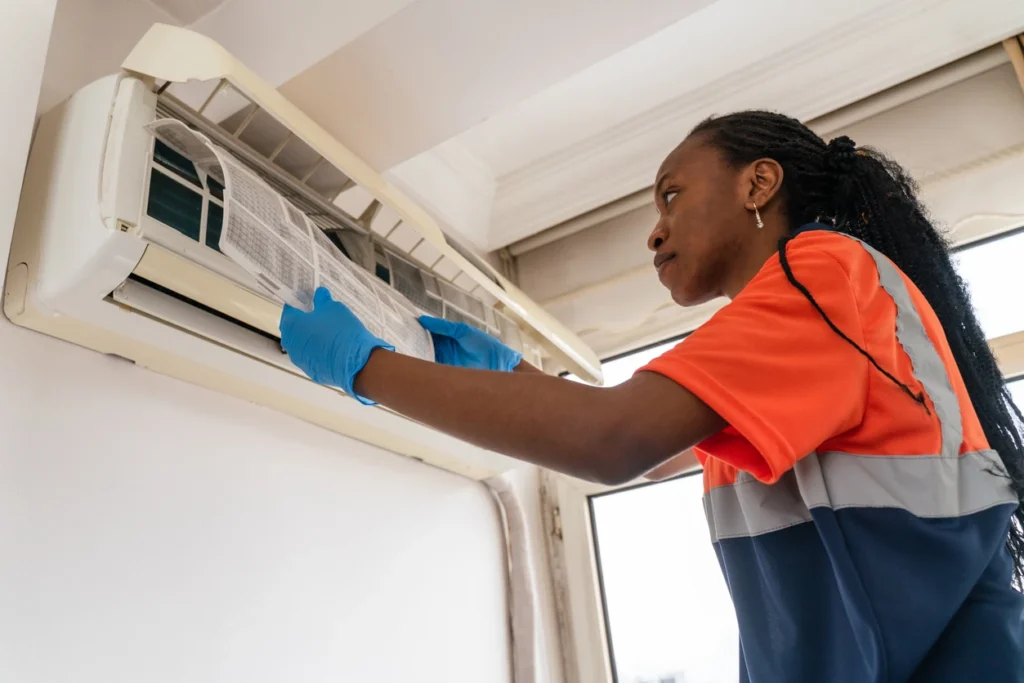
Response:
MULTIPOLYGON (((992 351, 971 305, 967 286, 953 268, 946 239, 935 228, 918 199, 916 183, 897 163, 849 137, 825 144, 807 126, 772 112, 739 112, 712 117, 693 129, 725 159, 743 166, 773 159, 782 167, 779 188, 791 231, 815 221, 874 247, 892 260, 935 310, 967 386, 989 445, 995 450, 1017 494, 1017 511, 1007 547, 1014 561, 1014 585, 1024 586, 1024 416, 1013 402, 992 351)), ((785 275, 829 327, 852 344, 915 401, 924 396, 896 380, 864 349, 839 330, 793 274, 779 243, 785 275)))

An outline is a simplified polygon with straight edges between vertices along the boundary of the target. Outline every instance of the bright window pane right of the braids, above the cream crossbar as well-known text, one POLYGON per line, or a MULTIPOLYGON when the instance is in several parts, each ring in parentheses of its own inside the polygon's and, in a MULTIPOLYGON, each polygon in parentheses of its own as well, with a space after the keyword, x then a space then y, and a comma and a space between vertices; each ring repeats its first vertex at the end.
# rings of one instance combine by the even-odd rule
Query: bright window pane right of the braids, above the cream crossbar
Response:
POLYGON ((988 339, 1024 330, 1024 228, 969 246, 956 254, 957 268, 971 290, 981 329, 988 339))

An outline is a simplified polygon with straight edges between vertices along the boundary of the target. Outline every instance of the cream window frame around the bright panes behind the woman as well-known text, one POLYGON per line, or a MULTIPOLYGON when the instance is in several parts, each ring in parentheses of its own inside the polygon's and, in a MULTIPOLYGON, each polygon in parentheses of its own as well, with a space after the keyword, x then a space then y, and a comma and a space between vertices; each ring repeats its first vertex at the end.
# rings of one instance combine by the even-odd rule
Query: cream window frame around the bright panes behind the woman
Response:
MULTIPOLYGON (((1022 231, 1024 225, 1014 223, 982 234, 954 234, 952 251, 957 253, 1022 231)), ((681 341, 692 332, 693 329, 689 329, 663 341, 645 343, 633 350, 616 353, 602 360, 602 365, 672 341, 681 341)), ((988 343, 1002 372, 1004 381, 1024 379, 1024 330, 990 339, 988 343)), ((699 471, 670 478, 693 476, 699 471)), ((658 482, 641 478, 618 486, 607 486, 547 470, 542 470, 541 482, 541 506, 548 526, 545 536, 552 568, 556 618, 562 639, 565 680, 573 683, 616 683, 591 498, 658 482)))

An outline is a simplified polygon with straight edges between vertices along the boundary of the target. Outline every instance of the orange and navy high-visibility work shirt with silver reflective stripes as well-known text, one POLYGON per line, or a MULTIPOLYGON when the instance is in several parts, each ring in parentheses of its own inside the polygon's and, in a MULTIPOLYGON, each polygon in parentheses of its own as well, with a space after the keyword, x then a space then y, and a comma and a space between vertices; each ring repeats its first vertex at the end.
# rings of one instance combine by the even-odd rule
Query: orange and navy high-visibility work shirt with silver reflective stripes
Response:
POLYGON ((1024 680, 1005 549, 1017 497, 935 312, 848 236, 808 226, 786 255, 835 326, 924 400, 830 329, 777 255, 640 371, 729 425, 696 454, 744 680, 1024 680))

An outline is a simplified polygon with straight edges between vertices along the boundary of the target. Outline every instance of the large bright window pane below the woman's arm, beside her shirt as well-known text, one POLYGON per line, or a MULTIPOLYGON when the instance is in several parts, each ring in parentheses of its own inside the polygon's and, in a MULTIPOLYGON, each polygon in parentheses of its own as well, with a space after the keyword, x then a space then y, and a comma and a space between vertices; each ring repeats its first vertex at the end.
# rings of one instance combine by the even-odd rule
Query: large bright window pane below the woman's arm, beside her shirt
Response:
POLYGON ((739 635, 700 474, 591 498, 617 683, 734 683, 739 635))

